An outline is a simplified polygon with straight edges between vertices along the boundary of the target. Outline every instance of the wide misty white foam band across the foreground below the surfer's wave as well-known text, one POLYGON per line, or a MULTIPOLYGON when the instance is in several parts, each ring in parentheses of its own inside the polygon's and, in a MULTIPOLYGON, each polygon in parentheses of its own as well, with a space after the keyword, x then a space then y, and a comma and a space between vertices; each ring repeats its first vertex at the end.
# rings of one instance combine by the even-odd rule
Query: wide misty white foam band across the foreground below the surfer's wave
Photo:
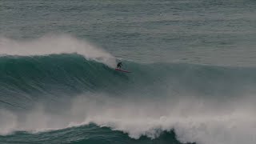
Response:
MULTIPOLYGON (((131 138, 139 138, 142 135, 158 138, 163 130, 174 129, 181 142, 256 142, 256 117, 253 107, 242 109, 242 106, 226 103, 227 111, 218 112, 217 107, 217 111, 207 110, 210 104, 207 100, 200 106, 195 105, 197 102, 198 99, 187 101, 184 98, 176 104, 170 104, 142 99, 110 98, 104 94, 86 95, 74 98, 70 109, 60 110, 58 114, 50 114, 42 106, 27 112, 23 118, 18 118, 20 116, 10 112, 2 112, 1 114, 8 116, 8 122, 4 123, 9 127, 1 127, 0 133, 10 134, 13 130, 56 130, 94 122, 98 126, 109 126, 128 133, 131 138)), ((2 115, 0 116, 2 118, 2 115)), ((0 126, 4 125, 1 123, 0 126)))

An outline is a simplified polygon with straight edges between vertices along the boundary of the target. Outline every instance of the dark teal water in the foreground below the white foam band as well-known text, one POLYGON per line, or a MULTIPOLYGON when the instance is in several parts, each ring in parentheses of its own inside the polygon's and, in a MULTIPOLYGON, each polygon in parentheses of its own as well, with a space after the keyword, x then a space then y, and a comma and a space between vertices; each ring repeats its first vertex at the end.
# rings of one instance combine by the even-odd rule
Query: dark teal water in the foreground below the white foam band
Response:
POLYGON ((158 138, 129 138, 127 134, 120 131, 110 130, 107 127, 98 127, 94 124, 68 128, 66 130, 55 130, 51 132, 43 132, 39 134, 29 134, 26 132, 17 132, 15 134, 2 137, 2 143, 137 143, 137 144, 153 144, 153 143, 180 143, 176 140, 174 132, 163 132, 158 138), (26 139, 25 139, 26 137, 26 139))

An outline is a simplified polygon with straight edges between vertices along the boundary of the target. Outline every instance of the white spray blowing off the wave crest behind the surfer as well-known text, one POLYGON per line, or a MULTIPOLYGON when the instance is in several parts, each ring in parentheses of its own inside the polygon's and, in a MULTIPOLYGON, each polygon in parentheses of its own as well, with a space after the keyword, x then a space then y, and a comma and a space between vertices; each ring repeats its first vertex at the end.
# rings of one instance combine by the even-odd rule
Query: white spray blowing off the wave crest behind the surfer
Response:
POLYGON ((82 54, 87 59, 105 63, 107 66, 116 65, 115 58, 90 42, 78 40, 70 35, 46 35, 42 38, 18 41, 0 37, 1 55, 47 55, 47 54, 82 54))

